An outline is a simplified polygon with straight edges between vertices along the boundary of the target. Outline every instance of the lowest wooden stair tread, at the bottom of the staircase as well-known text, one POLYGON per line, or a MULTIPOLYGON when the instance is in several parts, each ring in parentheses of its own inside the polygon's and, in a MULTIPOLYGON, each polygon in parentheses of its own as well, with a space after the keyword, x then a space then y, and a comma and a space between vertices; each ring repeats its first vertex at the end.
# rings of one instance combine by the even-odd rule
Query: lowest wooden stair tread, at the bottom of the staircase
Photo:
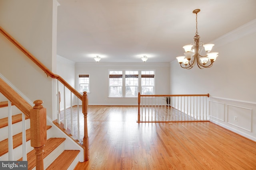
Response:
POLYGON ((66 170, 72 164, 80 150, 64 150, 46 170, 66 170))

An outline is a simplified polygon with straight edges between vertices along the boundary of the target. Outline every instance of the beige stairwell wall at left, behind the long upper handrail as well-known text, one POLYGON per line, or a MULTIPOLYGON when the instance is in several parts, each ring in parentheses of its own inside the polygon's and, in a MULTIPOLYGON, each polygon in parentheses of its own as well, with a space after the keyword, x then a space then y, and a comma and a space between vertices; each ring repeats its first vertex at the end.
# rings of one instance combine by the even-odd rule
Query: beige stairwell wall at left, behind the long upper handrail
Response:
MULTIPOLYGON (((52 0, 1 0, 0 23, 14 39, 52 69, 52 0)), ((0 35, 0 72, 30 100, 52 114, 52 78, 0 35)))

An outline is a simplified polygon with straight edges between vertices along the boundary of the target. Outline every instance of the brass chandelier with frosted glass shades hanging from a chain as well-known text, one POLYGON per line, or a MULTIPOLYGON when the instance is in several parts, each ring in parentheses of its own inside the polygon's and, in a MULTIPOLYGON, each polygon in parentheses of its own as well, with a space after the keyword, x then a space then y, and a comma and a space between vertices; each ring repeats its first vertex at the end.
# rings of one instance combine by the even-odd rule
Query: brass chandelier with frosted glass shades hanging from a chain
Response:
POLYGON ((180 66, 182 68, 191 69, 195 64, 198 65, 200 69, 209 68, 212 66, 213 62, 216 60, 218 53, 210 53, 214 44, 205 44, 200 42, 200 36, 197 32, 197 13, 200 9, 193 11, 196 14, 196 35, 194 36, 194 43, 190 45, 185 45, 183 48, 185 50, 185 56, 176 57, 180 66), (205 49, 206 55, 201 55, 202 49, 205 49))

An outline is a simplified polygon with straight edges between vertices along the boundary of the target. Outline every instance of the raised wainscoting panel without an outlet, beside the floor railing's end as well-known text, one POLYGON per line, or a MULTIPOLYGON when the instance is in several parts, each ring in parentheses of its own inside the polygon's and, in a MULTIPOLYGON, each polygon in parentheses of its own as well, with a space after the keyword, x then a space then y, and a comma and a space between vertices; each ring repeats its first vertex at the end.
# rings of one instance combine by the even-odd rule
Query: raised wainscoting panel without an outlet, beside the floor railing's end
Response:
POLYGON ((209 101, 209 116, 220 121, 225 121, 225 104, 209 101))

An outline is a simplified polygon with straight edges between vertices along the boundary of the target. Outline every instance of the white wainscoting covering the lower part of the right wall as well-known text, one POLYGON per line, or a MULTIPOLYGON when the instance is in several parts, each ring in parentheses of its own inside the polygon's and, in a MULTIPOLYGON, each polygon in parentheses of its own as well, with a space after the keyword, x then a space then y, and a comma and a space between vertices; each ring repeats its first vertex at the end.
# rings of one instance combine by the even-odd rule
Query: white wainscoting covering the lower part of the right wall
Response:
POLYGON ((256 103, 210 96, 209 120, 256 141, 256 103))

